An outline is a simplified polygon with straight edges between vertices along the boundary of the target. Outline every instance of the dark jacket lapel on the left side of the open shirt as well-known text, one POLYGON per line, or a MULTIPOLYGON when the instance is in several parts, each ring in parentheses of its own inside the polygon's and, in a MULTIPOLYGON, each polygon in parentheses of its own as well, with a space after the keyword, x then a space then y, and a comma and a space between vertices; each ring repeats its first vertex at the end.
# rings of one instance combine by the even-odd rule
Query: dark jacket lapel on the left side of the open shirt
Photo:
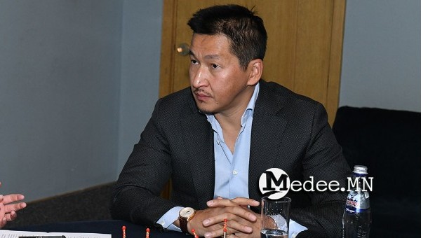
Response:
POLYGON ((210 123, 205 115, 199 113, 193 98, 190 100, 189 110, 182 117, 183 141, 189 153, 189 171, 192 172, 199 207, 206 207, 206 202, 214 197, 213 130, 207 130, 210 123))

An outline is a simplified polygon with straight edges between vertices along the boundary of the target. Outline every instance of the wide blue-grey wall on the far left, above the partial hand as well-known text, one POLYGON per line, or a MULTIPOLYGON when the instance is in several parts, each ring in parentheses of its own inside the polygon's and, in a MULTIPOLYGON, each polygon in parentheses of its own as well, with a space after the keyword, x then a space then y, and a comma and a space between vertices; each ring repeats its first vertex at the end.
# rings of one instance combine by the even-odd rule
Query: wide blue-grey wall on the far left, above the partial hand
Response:
POLYGON ((122 2, 0 1, 1 193, 116 179, 122 2))

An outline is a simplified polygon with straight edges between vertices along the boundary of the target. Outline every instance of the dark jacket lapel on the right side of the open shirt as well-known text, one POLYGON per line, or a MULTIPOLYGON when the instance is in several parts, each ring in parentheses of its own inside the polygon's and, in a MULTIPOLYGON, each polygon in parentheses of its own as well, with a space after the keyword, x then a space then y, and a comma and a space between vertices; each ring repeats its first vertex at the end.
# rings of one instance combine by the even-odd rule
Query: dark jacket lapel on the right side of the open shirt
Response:
POLYGON ((279 157, 278 150, 286 129, 286 119, 276 116, 283 105, 260 81, 260 92, 255 103, 251 129, 248 192, 250 198, 260 201, 259 178, 266 169, 272 168, 279 157))

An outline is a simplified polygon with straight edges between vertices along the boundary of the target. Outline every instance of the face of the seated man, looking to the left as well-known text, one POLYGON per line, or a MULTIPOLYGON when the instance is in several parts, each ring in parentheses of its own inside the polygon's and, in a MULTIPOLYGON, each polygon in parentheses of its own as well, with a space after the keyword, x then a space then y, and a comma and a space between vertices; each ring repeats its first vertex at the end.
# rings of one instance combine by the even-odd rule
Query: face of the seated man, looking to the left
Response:
POLYGON ((234 113, 245 108, 251 97, 253 91, 247 87, 250 69, 241 69, 229 48, 229 39, 220 34, 194 34, 192 38, 189 80, 203 113, 234 113))

